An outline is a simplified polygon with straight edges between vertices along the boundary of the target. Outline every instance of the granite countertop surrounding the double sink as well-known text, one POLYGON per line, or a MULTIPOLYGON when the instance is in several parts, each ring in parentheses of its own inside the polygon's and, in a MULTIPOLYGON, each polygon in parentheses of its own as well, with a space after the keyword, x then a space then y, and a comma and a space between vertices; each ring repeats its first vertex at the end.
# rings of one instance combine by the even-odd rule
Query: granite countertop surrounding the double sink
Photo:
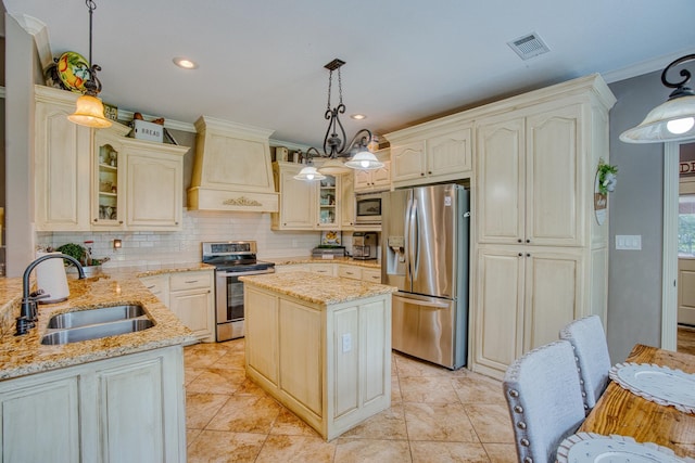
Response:
POLYGON ((0 279, 0 381, 96 360, 195 343, 189 329, 138 280, 160 273, 213 270, 203 263, 163 266, 156 269, 104 269, 102 273, 77 280, 68 278, 70 298, 63 303, 39 305, 38 322, 26 335, 14 336, 20 313, 22 279, 0 279), (41 336, 48 320, 56 313, 96 308, 100 305, 142 305, 155 325, 136 333, 43 346, 41 336))

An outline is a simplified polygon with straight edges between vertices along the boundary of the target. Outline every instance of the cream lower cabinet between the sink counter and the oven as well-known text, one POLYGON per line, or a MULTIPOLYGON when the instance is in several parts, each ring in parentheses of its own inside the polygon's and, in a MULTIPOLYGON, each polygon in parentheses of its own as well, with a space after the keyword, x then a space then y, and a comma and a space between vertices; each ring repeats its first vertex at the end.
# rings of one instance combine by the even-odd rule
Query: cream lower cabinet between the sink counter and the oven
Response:
POLYGON ((140 278, 200 340, 215 340, 215 297, 212 270, 140 278))

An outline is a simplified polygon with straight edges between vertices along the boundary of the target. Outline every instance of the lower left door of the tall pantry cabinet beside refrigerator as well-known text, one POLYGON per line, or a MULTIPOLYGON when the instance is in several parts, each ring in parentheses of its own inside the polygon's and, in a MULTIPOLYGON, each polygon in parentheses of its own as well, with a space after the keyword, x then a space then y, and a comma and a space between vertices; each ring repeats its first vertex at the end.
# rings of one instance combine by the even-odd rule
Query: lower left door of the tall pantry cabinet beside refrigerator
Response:
POLYGON ((520 246, 481 247, 478 252, 475 357, 476 363, 491 369, 497 376, 504 375, 521 353, 523 272, 520 246))

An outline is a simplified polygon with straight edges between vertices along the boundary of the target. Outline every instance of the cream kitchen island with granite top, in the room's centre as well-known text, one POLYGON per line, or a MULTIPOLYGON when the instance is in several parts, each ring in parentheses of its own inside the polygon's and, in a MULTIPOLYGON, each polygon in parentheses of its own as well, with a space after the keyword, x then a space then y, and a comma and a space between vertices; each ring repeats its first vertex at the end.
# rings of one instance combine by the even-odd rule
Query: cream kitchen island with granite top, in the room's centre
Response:
POLYGON ((327 440, 391 406, 394 287, 302 271, 241 280, 251 380, 327 440))

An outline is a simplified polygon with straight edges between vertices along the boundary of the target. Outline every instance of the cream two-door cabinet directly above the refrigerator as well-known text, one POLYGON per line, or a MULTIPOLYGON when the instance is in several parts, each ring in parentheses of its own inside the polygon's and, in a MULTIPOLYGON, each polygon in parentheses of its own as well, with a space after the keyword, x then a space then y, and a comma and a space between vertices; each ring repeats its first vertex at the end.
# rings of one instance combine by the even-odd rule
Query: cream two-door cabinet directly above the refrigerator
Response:
POLYGON ((386 136, 394 188, 460 180, 472 169, 471 123, 426 123, 386 136))

